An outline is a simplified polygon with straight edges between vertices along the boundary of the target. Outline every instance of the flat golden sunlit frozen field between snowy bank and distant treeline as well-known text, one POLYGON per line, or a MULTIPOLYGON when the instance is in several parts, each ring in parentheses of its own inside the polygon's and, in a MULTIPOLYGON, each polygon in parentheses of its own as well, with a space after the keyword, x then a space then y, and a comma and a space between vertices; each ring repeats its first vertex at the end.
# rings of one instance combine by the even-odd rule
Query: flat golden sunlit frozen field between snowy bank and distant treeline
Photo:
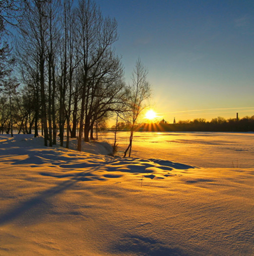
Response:
MULTIPOLYGON (((119 156, 128 144, 128 132, 117 133, 119 156)), ((105 139, 113 140, 113 133, 105 139)), ((132 157, 159 158, 199 167, 253 168, 254 133, 136 132, 132 157)))

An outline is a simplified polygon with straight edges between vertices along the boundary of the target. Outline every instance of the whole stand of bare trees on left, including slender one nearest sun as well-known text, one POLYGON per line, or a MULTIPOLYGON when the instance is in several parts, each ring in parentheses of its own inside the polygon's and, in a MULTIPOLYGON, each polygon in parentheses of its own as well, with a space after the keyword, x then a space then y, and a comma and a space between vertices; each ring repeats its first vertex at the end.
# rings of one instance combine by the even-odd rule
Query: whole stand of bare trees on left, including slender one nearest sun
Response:
MULTIPOLYGON (((0 84, 0 131, 9 132, 14 123, 19 132, 34 129, 38 136, 41 128, 46 146, 56 144, 57 135, 63 146, 66 132, 66 147, 70 137, 78 136, 81 150, 82 137, 93 139, 93 128, 115 113, 131 120, 134 127, 150 96, 150 85, 140 59, 132 85, 125 85, 121 60, 113 47, 118 39, 116 20, 103 18, 90 0, 80 0, 76 7, 72 0, 14 3, 12 13, 22 11, 22 21, 10 23, 18 25, 14 40, 17 79, 8 68, 14 59, 6 43, 5 59, 0 60, 5 70, 5 83, 0 84)), ((130 154, 132 137, 133 133, 130 154)))

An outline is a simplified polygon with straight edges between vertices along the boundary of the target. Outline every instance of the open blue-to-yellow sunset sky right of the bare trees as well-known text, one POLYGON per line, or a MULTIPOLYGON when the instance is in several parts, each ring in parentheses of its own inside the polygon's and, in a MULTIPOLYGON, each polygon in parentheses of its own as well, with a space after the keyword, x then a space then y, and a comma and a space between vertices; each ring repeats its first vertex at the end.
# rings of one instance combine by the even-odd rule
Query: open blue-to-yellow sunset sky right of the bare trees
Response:
POLYGON ((138 58, 169 123, 254 115, 254 1, 95 0, 118 22, 126 83, 138 58))

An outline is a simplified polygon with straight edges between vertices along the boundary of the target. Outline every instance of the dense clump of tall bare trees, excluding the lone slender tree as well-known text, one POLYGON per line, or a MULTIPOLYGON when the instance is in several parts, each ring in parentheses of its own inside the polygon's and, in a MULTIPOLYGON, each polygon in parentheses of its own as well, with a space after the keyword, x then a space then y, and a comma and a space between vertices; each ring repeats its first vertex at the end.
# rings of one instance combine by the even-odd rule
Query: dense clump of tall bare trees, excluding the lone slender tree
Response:
POLYGON ((67 147, 79 128, 81 150, 82 135, 89 141, 98 120, 111 116, 124 98, 123 67, 112 46, 117 22, 103 18, 92 0, 80 0, 77 8, 72 0, 24 0, 24 5, 16 56, 23 88, 38 104, 19 106, 18 126, 27 132, 34 122, 38 134, 41 120, 44 144, 49 140, 50 146, 59 128, 62 146, 67 125, 67 147))

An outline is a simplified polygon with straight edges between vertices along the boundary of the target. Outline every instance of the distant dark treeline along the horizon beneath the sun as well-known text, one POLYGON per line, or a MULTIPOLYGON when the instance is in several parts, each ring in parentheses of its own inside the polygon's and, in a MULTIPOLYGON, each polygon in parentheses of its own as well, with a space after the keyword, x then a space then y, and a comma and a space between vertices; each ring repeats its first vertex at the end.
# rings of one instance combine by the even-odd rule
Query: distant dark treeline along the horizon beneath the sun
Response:
POLYGON ((224 132, 247 132, 254 131, 254 116, 242 119, 228 119, 218 117, 210 122, 203 118, 193 121, 179 121, 169 124, 164 119, 156 124, 143 124, 142 130, 146 131, 224 131, 224 132))

